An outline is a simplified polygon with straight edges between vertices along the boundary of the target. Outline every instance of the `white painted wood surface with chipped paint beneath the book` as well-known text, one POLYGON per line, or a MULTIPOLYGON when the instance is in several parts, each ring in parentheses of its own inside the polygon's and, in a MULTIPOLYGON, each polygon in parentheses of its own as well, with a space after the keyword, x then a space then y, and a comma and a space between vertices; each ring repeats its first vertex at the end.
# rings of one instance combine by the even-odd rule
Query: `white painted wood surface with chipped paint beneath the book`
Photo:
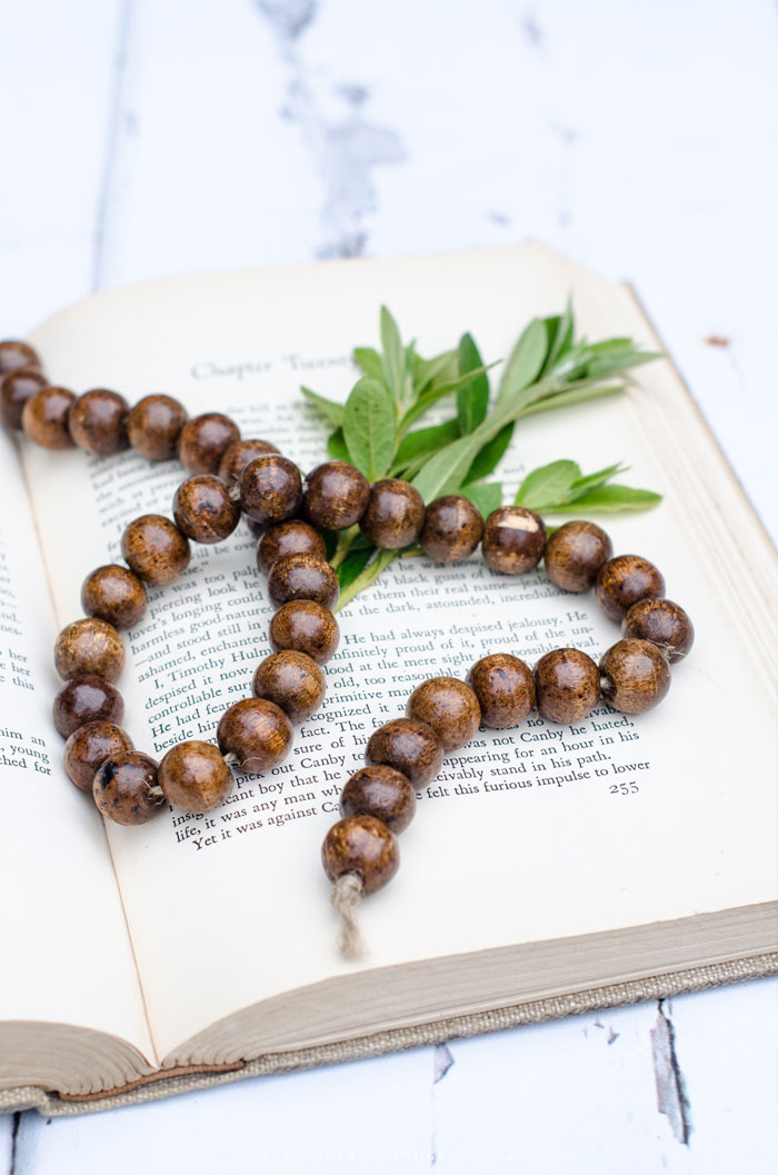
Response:
MULTIPOLYGON (((0 19, 4 335, 163 274, 544 240, 635 282, 778 533, 770 0, 0 0, 0 19)), ((0 1173, 760 1175, 776 994, 0 1117, 0 1173)))

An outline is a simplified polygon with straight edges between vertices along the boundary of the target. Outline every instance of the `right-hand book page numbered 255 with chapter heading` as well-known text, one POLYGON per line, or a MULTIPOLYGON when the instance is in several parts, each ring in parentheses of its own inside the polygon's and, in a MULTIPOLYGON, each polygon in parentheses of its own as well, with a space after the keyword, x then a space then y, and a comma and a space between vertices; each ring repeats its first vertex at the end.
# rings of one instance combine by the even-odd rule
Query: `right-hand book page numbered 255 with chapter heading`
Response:
MULTIPOLYGON (((114 387, 130 401, 163 390, 193 415, 227 411, 243 436, 273 441, 307 470, 326 459, 327 428, 299 385, 344 398, 355 378, 350 350, 375 344, 382 302, 422 355, 470 330, 490 362, 530 317, 558 313, 569 293, 582 334, 637 329, 638 341, 653 343, 624 288, 536 247, 155 283, 76 307, 34 342, 66 385, 114 387)), ((663 570, 669 597, 693 618, 697 643, 673 670, 668 699, 638 717, 601 705, 572 726, 535 716, 516 730, 482 731, 447 756, 420 791, 397 877, 364 904, 370 954, 346 964, 320 846, 373 728, 402 714, 424 678, 464 677, 489 652, 531 665, 572 645, 598 658, 619 637, 591 593, 561 592, 542 570, 499 576, 478 555, 449 568, 393 564, 338 615, 327 698, 296 730, 287 763, 239 774, 208 815, 169 812, 140 830, 108 830, 161 1055, 237 1008, 355 966, 774 897, 765 669, 749 610, 744 618, 723 572, 726 556, 707 545, 704 494, 691 475, 683 488, 672 444, 648 423, 652 397, 657 414, 663 396, 672 401, 675 377, 663 363, 637 375, 629 396, 522 422, 501 474, 510 501, 522 472, 549 461, 572 458, 584 472, 622 461, 630 484, 665 492, 655 512, 604 525, 617 553, 640 553, 663 570)), ((690 432, 679 442, 692 461, 696 441, 690 432)), ((48 457, 31 446, 25 458, 65 624, 80 615, 83 576, 118 558, 130 518, 170 512, 183 475, 174 462, 149 466, 130 452, 108 461, 66 454, 54 479, 48 457)), ((270 652, 271 616, 254 545, 241 524, 226 543, 194 548, 177 583, 150 591, 120 683, 129 732, 149 753, 214 739, 224 709, 250 696, 270 652)))

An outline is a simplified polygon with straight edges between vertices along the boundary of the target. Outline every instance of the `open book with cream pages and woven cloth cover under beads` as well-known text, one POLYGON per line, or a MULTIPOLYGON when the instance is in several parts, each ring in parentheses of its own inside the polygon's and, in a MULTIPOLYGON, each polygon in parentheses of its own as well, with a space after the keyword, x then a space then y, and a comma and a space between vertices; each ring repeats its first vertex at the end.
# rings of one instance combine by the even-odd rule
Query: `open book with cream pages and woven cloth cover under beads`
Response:
MULTIPOLYGON (((660 349, 628 287, 537 246, 155 282, 31 341, 56 383, 167 391, 309 469, 326 429, 299 385, 344 398, 382 302, 422 354, 470 330, 489 362, 569 294, 590 338, 660 349)), ((623 396, 522 422, 501 472, 516 484, 561 457, 623 461, 665 495, 604 525, 616 553, 664 572, 695 649, 650 713, 534 718, 449 756, 400 873, 364 904, 355 964, 320 846, 374 726, 427 677, 488 652, 597 658, 617 627, 542 568, 397 560, 338 616, 324 704, 287 763, 237 774, 208 815, 106 826, 61 765, 54 637, 126 524, 169 513, 182 470, 0 435, 1 1108, 102 1108, 776 969, 776 552, 666 360, 623 396)), ((271 615, 254 545, 243 525, 193 545, 187 573, 150 590, 119 683, 139 750, 213 739, 250 696, 271 615)))

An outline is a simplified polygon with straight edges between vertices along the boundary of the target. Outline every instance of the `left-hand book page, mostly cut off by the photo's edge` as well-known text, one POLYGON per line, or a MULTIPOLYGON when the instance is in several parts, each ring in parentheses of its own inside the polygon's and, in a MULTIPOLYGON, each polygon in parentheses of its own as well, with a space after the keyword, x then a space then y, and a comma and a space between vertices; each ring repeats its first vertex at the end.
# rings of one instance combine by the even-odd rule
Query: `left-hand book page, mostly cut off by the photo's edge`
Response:
POLYGON ((0 1020, 94 1028, 153 1058, 103 822, 61 764, 63 740, 52 723, 62 684, 53 665, 58 626, 19 454, 5 430, 0 495, 0 1020))

